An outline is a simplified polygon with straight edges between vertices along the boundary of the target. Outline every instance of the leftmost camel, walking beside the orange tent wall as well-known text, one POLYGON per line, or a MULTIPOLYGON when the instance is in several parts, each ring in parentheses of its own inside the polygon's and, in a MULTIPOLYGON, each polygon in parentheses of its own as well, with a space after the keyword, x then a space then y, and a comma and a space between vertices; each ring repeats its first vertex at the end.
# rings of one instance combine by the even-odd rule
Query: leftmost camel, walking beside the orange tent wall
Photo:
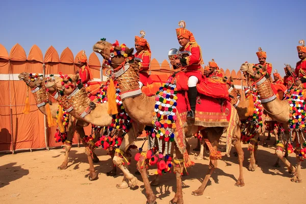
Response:
MULTIPOLYGON (((32 78, 30 76, 29 73, 27 72, 22 72, 18 75, 19 80, 23 80, 25 82, 25 84, 27 84, 27 86, 29 88, 31 88, 31 90, 37 90, 36 92, 33 92, 33 94, 35 95, 35 99, 38 100, 38 98, 42 98, 45 101, 48 101, 48 106, 50 108, 50 113, 52 114, 53 118, 56 118, 57 115, 57 110, 58 110, 58 100, 59 97, 53 97, 55 100, 57 100, 56 102, 51 102, 50 100, 48 100, 48 92, 46 91, 45 87, 44 87, 44 82, 46 79, 36 79, 34 80, 34 78, 32 78), (30 78, 33 79, 29 80, 30 78)), ((41 103, 37 101, 37 104, 41 103)), ((38 106, 38 109, 44 114, 47 115, 46 113, 46 107, 45 104, 42 106, 38 106)), ((58 167, 58 169, 62 170, 62 169, 67 169, 67 165, 68 165, 68 158, 69 158, 69 151, 71 149, 71 144, 72 144, 72 138, 74 135, 74 131, 77 131, 78 134, 80 135, 80 138, 82 139, 82 143, 84 144, 84 146, 86 147, 87 151, 89 151, 89 147, 88 144, 84 141, 84 137, 85 137, 85 132, 84 132, 84 127, 88 126, 89 123, 84 122, 82 120, 78 120, 75 119, 75 117, 73 117, 72 115, 69 115, 69 123, 68 123, 68 127, 67 127, 67 139, 64 142, 64 147, 65 147, 65 159, 64 162, 62 163, 62 165, 60 165, 58 167)), ((89 161, 89 165, 90 165, 90 169, 94 169, 93 166, 93 162, 98 162, 99 159, 98 157, 95 155, 95 153, 92 151, 92 156, 93 159, 91 158, 90 154, 87 154, 88 157, 88 161, 89 161)), ((94 172, 94 170, 93 170, 94 172)), ((91 181, 97 180, 98 179, 98 174, 97 172, 94 173, 90 173, 89 175, 89 179, 91 181)))

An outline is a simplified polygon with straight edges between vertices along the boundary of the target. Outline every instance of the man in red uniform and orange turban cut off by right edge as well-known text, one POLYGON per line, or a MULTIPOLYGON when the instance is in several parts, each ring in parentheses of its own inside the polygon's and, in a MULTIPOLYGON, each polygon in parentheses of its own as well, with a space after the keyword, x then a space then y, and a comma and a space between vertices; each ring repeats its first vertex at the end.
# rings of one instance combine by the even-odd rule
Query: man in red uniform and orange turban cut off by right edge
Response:
POLYGON ((296 63, 295 74, 297 75, 297 80, 294 85, 300 86, 302 84, 302 88, 306 88, 306 47, 304 40, 299 41, 301 46, 297 46, 298 57, 300 61, 296 63))

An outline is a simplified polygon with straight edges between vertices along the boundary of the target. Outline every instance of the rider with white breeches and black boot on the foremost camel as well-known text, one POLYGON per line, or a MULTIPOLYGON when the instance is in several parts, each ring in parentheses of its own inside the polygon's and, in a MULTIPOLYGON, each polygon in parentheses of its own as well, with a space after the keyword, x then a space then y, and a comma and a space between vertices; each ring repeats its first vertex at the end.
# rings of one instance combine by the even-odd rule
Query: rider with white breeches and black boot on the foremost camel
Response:
POLYGON ((188 77, 188 99, 191 109, 187 113, 187 118, 194 118, 197 97, 196 85, 202 78, 202 72, 200 70, 201 64, 203 64, 202 52, 193 34, 185 29, 185 21, 181 20, 179 25, 182 26, 182 28, 176 29, 176 37, 181 45, 179 51, 182 52, 187 50, 191 52, 191 56, 181 59, 172 59, 171 64, 182 64, 182 67, 185 68, 185 73, 188 77))

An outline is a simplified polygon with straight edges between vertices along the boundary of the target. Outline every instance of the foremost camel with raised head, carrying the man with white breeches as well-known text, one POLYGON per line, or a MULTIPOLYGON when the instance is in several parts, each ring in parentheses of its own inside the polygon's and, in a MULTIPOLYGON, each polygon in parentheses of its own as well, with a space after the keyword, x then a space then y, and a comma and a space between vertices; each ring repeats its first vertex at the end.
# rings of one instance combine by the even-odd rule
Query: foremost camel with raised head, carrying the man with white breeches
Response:
MULTIPOLYGON (((134 120, 138 121, 141 124, 152 126, 152 121, 154 120, 154 117, 152 116, 152 113, 154 112, 155 107, 155 97, 148 97, 144 95, 141 90, 139 89, 138 81, 139 81, 139 64, 136 60, 133 59, 133 50, 134 48, 128 48, 125 46, 125 54, 128 57, 131 57, 132 60, 129 62, 129 64, 126 64, 126 57, 122 57, 121 55, 113 56, 110 58, 110 50, 112 48, 112 44, 101 40, 98 41, 93 46, 93 51, 100 54, 106 61, 111 61, 111 69, 118 71, 119 68, 123 65, 123 70, 119 70, 119 74, 117 77, 115 76, 115 80, 119 84, 119 88, 122 93, 128 95, 128 97, 123 97, 121 95, 122 104, 126 110, 126 112, 129 114, 129 116, 134 120), (121 65, 119 67, 119 65, 121 65), (126 66, 124 66, 126 65, 126 66), (129 66, 130 65, 130 66, 129 66), (137 90, 137 91, 135 91, 137 90), (140 91, 139 91, 140 90, 140 91)), ((115 46, 114 50, 120 51, 119 46, 115 46)), ((122 52, 122 51, 121 51, 122 52)), ((116 73, 116 72, 115 72, 116 73)), ((235 118, 237 121, 239 120, 238 117, 235 118)), ((189 125, 185 127, 185 135, 186 137, 191 137, 194 133, 198 132, 198 127, 196 125, 189 125)), ((212 144, 212 148, 214 151, 217 151, 219 139, 222 135, 223 127, 208 127, 205 129, 205 127, 200 126, 200 131, 206 132, 207 139, 212 144)), ((170 201, 170 203, 183 203, 183 192, 182 192, 182 178, 181 173, 182 169, 181 166, 184 165, 183 158, 183 152, 180 151, 179 147, 177 147, 176 142, 174 143, 175 148, 175 158, 174 158, 174 173, 176 176, 176 193, 174 198, 170 201)), ((235 126, 235 134, 233 138, 233 144, 237 149, 238 152, 238 158, 239 158, 239 167, 240 167, 240 175, 236 186, 244 186, 243 181, 243 175, 242 175, 242 162, 243 162, 243 151, 240 144, 240 128, 239 125, 235 126)), ((156 195, 153 193, 149 180, 147 177, 147 163, 143 162, 144 160, 139 160, 137 163, 138 169, 141 173, 145 190, 146 190, 146 197, 147 197, 147 203, 155 203, 156 201, 156 195)), ((209 171, 207 172, 205 179, 203 180, 203 183, 201 186, 193 191, 193 195, 199 196, 203 194, 203 191, 206 188, 207 182, 209 181, 210 176, 214 172, 215 168, 217 167, 217 159, 213 159, 211 157, 210 164, 209 164, 209 171)))

